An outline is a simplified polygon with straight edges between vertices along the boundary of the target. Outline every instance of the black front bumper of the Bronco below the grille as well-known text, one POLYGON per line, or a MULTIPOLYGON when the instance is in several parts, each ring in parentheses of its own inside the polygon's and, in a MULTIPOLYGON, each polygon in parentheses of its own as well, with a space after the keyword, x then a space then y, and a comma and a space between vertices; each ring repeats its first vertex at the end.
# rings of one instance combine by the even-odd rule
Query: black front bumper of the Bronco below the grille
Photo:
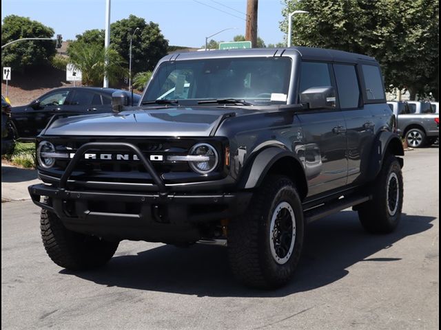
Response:
POLYGON ((243 214, 252 197, 252 192, 161 195, 67 190, 45 184, 28 189, 37 206, 57 214, 74 232, 165 243, 198 241, 205 224, 243 214))

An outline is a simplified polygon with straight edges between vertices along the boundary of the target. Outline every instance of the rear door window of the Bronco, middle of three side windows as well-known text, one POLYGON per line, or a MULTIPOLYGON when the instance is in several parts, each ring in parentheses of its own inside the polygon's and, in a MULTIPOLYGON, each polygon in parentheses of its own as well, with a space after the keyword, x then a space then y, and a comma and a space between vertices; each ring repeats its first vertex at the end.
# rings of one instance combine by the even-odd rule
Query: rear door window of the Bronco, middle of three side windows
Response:
POLYGON ((360 87, 358 85, 356 67, 354 65, 336 64, 334 65, 334 73, 336 74, 340 108, 358 108, 360 104, 360 87))

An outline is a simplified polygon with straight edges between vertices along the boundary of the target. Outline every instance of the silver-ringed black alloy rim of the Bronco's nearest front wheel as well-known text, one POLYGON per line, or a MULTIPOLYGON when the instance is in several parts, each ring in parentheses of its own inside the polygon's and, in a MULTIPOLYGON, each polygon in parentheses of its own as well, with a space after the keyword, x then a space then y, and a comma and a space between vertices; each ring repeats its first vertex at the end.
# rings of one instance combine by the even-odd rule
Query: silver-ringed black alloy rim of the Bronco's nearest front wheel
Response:
POLYGON ((296 217, 291 205, 282 201, 276 206, 269 226, 269 248, 274 261, 287 263, 296 242, 296 217))

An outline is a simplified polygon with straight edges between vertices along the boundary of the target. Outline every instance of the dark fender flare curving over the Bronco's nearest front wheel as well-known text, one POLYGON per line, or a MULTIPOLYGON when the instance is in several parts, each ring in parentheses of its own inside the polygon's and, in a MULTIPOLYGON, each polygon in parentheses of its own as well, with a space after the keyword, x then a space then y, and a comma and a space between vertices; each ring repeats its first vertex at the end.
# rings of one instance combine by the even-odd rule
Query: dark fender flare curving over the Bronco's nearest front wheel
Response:
MULTIPOLYGON (((252 189, 260 186, 271 166, 276 164, 279 159, 284 157, 296 162, 298 166, 303 169, 302 162, 300 162, 294 153, 277 146, 269 146, 260 151, 260 153, 258 153, 258 155, 252 159, 251 163, 248 164, 248 166, 245 166, 245 170, 243 175, 241 175, 241 179, 238 184, 239 188, 252 189)), ((305 170, 302 170, 301 173, 292 173, 291 177, 298 175, 302 175, 302 177, 299 179, 302 180, 302 185, 306 186, 307 188, 305 170)))

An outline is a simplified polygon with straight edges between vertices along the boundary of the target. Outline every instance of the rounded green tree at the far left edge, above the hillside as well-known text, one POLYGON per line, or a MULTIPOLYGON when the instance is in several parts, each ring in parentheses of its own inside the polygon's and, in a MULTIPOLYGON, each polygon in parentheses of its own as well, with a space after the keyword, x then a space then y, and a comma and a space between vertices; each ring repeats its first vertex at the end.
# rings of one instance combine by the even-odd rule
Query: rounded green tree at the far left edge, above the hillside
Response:
MULTIPOLYGON (((52 38, 54 30, 28 17, 9 15, 1 25, 1 44, 21 38, 52 38)), ((37 65, 50 65, 50 59, 57 53, 54 41, 21 41, 1 50, 1 65, 24 72, 37 65)))

